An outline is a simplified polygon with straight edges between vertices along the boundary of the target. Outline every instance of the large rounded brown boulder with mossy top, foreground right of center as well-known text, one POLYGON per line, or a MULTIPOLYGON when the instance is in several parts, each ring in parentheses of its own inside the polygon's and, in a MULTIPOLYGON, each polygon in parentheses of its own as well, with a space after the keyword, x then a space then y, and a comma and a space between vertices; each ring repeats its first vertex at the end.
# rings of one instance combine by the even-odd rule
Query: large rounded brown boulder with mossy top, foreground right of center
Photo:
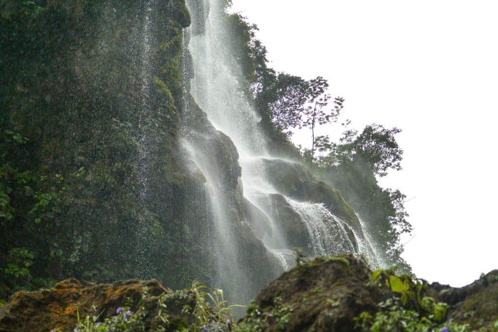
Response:
POLYGON ((272 281, 240 322, 245 331, 354 331, 385 295, 368 287, 371 271, 352 255, 316 258, 272 281))

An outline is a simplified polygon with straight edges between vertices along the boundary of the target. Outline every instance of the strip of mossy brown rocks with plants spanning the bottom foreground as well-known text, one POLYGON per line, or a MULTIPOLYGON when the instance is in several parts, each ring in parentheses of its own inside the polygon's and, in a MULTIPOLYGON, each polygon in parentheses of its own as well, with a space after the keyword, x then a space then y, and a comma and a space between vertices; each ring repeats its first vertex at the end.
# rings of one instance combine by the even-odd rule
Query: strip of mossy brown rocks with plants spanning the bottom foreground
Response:
POLYGON ((124 315, 119 308, 140 313, 124 324, 139 323, 144 331, 371 331, 365 330, 360 317, 379 317, 382 313, 389 315, 377 321, 374 331, 497 331, 498 270, 463 288, 424 282, 411 289, 416 293, 412 299, 446 303, 439 320, 424 312, 417 304, 419 299, 417 303, 403 302, 399 292, 404 286, 388 287, 382 277, 373 280, 374 275, 381 275, 391 278, 391 285, 396 280, 405 280, 405 286, 415 285, 411 279, 390 273, 375 274, 352 255, 301 260, 261 291, 237 325, 227 311, 220 311, 224 304, 219 303, 221 307, 216 310, 228 315, 218 315, 211 309, 204 301, 208 294, 198 286, 171 291, 155 280, 97 285, 69 279, 52 289, 14 294, 0 307, 0 332, 73 331, 78 315, 83 320, 96 316, 93 324, 114 324, 124 315))

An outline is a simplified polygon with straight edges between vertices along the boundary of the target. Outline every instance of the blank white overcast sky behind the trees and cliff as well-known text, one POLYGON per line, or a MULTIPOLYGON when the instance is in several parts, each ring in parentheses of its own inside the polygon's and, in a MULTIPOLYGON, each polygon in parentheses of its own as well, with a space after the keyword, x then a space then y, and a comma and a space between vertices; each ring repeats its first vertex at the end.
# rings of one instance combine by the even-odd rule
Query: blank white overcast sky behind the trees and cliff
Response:
POLYGON ((403 129, 404 169, 381 183, 416 196, 404 257, 417 276, 463 286, 498 268, 498 1, 233 2, 271 67, 328 79, 357 129, 403 129))

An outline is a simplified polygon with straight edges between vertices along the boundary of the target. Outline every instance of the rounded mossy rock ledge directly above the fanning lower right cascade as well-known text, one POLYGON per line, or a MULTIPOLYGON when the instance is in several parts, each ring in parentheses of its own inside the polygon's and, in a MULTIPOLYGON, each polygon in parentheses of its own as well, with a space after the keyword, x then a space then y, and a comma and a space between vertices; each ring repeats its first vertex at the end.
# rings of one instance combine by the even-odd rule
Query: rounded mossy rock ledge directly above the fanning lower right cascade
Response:
POLYGON ((358 217, 338 190, 318 181, 302 165, 281 159, 262 161, 267 179, 279 192, 296 201, 323 203, 330 212, 346 221, 357 233, 363 234, 358 217))

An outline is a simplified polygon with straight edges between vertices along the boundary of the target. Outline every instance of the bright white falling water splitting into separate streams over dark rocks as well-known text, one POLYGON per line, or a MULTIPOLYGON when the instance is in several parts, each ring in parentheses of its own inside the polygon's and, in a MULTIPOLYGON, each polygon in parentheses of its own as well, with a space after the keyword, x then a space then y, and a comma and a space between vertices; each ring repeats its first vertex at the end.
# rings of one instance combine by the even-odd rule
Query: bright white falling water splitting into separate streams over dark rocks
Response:
MULTIPOLYGON (((243 81, 242 70, 227 52, 229 34, 223 25, 224 11, 220 9, 223 3, 223 0, 187 0, 194 20, 192 26, 185 31, 194 67, 193 75, 189 77, 190 94, 207 114, 213 126, 228 135, 237 148, 242 167, 241 195, 268 219, 272 235, 265 235, 260 240, 281 266, 287 269, 290 266, 288 252, 294 248, 290 248, 284 240, 279 217, 275 218, 268 208, 271 205, 260 204, 261 197, 281 193, 267 181, 264 169, 259 169, 258 163, 254 162, 271 156, 265 149, 265 137, 258 126, 260 118, 240 83, 243 81)), ((185 110, 187 113, 188 111, 185 110)), ((197 135, 196 139, 204 138, 201 134, 197 135)), ((235 238, 230 231, 230 225, 234 222, 231 220, 233 216, 227 213, 231 209, 227 195, 233 193, 227 193, 222 185, 220 170, 216 169, 216 165, 212 165, 210 151, 200 148, 192 138, 186 139, 184 146, 206 177, 206 192, 211 196, 216 227, 223 239, 217 253, 219 269, 223 271, 218 276, 221 279, 219 284, 224 285, 239 279, 239 284, 244 285, 244 282, 240 281, 244 276, 238 273, 241 267, 237 266, 239 257, 237 246, 233 243, 235 238)), ((305 224, 309 249, 313 255, 351 252, 364 254, 372 265, 378 265, 370 241, 363 238, 363 234, 358 236, 346 222, 331 214, 323 204, 284 198, 305 224)))

